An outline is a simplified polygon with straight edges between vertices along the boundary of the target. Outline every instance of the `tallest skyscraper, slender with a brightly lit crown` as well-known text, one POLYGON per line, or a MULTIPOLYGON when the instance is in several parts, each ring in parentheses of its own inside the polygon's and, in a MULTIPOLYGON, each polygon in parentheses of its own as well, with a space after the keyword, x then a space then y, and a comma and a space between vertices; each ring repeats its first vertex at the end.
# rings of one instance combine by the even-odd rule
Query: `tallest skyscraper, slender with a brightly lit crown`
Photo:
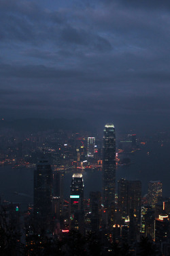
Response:
POLYGON ((114 225, 116 183, 116 137, 113 124, 106 124, 103 136, 103 205, 105 227, 114 225))

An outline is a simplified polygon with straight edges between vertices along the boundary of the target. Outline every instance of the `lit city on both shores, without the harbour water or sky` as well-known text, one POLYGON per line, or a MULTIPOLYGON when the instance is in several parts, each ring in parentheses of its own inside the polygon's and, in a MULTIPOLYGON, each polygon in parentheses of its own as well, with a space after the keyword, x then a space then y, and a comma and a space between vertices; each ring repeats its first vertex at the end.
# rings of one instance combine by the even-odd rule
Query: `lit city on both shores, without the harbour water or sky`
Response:
POLYGON ((1 170, 33 169, 33 198, 24 208, 1 193, 1 255, 170 255, 170 199, 163 197, 161 177, 148 182, 145 195, 141 180, 116 182, 118 169, 131 170, 131 156, 147 143, 169 143, 167 132, 117 137, 111 123, 102 138, 85 130, 9 128, 1 130, 0 141, 1 170), (101 173, 101 188, 85 197, 84 173, 94 171, 101 173))

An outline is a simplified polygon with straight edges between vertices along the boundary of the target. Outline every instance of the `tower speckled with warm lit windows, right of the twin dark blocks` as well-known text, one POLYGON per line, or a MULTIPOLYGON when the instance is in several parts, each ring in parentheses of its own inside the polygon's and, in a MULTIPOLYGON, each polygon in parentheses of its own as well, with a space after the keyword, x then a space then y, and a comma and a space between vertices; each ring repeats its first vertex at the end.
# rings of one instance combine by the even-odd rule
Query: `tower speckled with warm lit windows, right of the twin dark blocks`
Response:
POLYGON ((148 184, 148 203, 155 208, 158 199, 163 196, 163 183, 160 180, 150 181, 148 184))

